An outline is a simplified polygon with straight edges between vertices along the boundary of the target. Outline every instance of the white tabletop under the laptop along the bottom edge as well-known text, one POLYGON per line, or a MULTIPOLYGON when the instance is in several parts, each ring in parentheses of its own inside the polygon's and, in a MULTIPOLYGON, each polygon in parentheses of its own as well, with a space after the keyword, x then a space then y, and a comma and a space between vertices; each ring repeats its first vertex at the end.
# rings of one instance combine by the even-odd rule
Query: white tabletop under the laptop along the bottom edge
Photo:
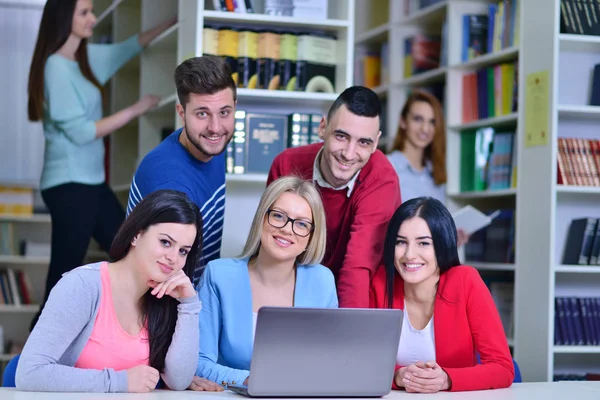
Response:
MULTIPOLYGON (((210 392, 173 392, 157 390, 151 393, 39 393, 20 392, 14 388, 0 388, 1 400, 242 400, 245 397, 229 391, 210 392)), ((485 390, 476 392, 441 392, 436 394, 412 394, 392 391, 384 400, 422 400, 422 399, 460 399, 460 400, 600 400, 600 382, 544 382, 516 383, 508 389, 485 390)), ((276 400, 276 399, 271 399, 276 400)), ((316 399, 311 399, 316 400, 316 399)), ((357 399, 353 399, 357 400, 357 399)))

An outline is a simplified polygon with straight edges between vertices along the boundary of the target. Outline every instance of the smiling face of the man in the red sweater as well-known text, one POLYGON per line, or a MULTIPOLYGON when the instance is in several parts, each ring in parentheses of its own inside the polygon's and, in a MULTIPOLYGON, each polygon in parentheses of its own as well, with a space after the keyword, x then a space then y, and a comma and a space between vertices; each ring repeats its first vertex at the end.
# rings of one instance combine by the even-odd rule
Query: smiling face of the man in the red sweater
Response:
POLYGON ((323 152, 319 167, 323 178, 333 187, 350 182, 377 150, 379 117, 353 114, 342 105, 331 119, 321 120, 319 137, 323 152))

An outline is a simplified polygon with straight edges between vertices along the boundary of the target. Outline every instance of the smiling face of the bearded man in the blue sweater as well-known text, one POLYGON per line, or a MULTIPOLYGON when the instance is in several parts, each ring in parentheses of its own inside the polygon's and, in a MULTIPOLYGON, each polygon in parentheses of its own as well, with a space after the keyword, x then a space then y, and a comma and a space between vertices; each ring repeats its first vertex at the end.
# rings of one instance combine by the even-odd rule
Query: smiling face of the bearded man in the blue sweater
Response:
POLYGON ((185 108, 178 104, 177 112, 183 123, 179 141, 195 158, 208 162, 225 151, 235 123, 230 88, 214 94, 190 93, 185 108))

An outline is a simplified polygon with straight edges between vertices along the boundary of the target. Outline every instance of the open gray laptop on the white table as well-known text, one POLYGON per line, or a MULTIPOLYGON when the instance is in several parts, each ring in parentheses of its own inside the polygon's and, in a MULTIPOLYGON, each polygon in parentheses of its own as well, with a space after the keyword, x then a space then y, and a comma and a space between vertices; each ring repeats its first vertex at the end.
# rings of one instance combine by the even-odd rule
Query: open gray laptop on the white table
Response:
POLYGON ((402 310, 262 307, 248 397, 382 397, 391 391, 402 310))

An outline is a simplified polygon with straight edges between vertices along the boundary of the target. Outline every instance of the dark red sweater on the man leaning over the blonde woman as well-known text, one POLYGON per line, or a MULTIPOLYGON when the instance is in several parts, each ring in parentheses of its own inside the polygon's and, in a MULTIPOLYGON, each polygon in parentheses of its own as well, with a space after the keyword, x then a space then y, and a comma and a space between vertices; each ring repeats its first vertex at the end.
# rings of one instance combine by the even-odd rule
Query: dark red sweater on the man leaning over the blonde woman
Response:
MULTIPOLYGON (((283 151, 273 161, 267 185, 292 174, 312 180, 321 147, 317 143, 283 151)), ((336 278, 340 307, 369 308, 369 283, 381 263, 388 222, 400 206, 398 175, 377 150, 359 172, 350 197, 347 190, 316 186, 327 219, 323 265, 336 278)))

